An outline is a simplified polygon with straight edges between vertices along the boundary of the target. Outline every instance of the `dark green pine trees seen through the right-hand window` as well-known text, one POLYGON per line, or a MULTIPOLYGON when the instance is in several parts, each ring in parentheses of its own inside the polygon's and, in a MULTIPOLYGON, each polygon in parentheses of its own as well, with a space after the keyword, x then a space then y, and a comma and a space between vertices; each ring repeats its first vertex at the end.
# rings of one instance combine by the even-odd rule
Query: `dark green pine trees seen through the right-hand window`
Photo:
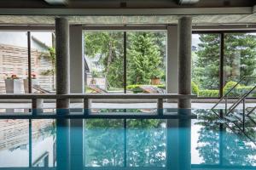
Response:
MULTIPOLYGON (((218 89, 220 37, 201 34, 193 64, 193 81, 203 89, 218 89)), ((225 82, 255 76, 256 36, 247 33, 224 34, 225 82)), ((247 82, 245 82, 247 83, 247 82)))

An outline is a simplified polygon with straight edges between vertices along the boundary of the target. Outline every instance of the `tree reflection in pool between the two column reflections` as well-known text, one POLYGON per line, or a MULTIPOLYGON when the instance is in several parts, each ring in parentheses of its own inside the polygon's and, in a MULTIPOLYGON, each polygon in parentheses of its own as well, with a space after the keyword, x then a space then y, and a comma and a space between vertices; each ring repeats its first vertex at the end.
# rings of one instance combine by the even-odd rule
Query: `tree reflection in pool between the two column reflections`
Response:
POLYGON ((164 166, 166 131, 162 120, 94 119, 85 122, 86 166, 164 166), (125 146, 126 133, 126 146, 125 146), (127 147, 127 150, 125 150, 127 147))

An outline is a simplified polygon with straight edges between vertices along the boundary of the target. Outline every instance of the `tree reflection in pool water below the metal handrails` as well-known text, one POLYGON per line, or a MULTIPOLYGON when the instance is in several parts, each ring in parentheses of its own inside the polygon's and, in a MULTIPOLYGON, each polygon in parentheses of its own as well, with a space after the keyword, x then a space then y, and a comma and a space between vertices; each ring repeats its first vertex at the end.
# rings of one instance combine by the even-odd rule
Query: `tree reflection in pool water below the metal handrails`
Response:
POLYGON ((201 125, 199 130, 198 146, 200 156, 205 164, 224 165, 253 165, 256 163, 255 146, 248 142, 244 135, 238 135, 230 131, 228 127, 223 126, 220 132, 221 124, 216 122, 217 116, 210 111, 199 110, 198 122, 201 125), (221 162, 220 162, 221 161, 221 162))

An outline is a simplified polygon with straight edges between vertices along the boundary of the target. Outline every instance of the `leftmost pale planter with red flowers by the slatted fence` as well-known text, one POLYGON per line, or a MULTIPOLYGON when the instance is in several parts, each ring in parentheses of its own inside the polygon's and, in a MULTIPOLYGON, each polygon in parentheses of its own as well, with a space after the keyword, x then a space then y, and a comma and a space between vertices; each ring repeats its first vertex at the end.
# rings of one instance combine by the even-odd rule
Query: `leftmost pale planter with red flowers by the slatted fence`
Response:
POLYGON ((21 86, 22 82, 20 77, 16 74, 12 74, 11 76, 5 75, 5 90, 6 94, 21 94, 21 86))

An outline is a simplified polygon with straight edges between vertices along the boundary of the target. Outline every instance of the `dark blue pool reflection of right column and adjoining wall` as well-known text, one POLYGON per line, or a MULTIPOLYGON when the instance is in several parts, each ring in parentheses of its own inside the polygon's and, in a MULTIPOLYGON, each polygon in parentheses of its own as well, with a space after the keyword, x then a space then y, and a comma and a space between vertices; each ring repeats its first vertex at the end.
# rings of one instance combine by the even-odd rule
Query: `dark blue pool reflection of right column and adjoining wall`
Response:
MULTIPOLYGON (((188 116, 189 109, 178 109, 177 114, 188 116)), ((168 170, 191 169, 191 119, 167 120, 166 167, 168 170)))

